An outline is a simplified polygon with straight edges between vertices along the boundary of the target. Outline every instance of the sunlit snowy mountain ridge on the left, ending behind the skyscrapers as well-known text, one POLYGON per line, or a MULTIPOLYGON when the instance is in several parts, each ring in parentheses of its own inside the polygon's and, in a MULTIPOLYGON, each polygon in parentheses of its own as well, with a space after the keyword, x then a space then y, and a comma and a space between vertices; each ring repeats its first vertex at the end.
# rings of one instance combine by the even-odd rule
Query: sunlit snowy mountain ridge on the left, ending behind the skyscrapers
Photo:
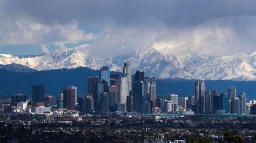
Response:
MULTIPOLYGON (((8 65, 17 63, 36 70, 49 70, 60 68, 76 68, 88 67, 91 69, 99 69, 109 64, 105 59, 96 58, 84 52, 83 48, 87 45, 75 48, 66 48, 53 51, 49 54, 36 56, 33 58, 20 58, 19 56, 11 56, 0 54, 0 64, 8 65)), ((111 70, 121 71, 122 68, 115 64, 110 64, 111 70)))

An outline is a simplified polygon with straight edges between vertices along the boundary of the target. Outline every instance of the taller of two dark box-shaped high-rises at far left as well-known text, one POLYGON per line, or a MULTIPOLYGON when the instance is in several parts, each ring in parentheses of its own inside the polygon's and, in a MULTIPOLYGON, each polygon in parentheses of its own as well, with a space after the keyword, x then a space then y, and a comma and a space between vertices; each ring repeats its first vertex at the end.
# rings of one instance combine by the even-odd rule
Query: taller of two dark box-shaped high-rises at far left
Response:
POLYGON ((44 103, 44 85, 32 85, 32 102, 44 103))

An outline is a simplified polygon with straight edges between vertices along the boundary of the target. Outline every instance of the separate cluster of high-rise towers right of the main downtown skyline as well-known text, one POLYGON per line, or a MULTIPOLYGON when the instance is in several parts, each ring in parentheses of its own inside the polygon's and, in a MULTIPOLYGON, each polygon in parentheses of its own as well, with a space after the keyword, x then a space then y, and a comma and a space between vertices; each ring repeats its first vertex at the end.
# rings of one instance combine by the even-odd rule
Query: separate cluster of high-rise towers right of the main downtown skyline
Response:
POLYGON ((223 111, 224 113, 247 113, 246 93, 242 92, 237 97, 236 87, 228 89, 228 95, 222 93, 219 95, 217 90, 206 90, 206 82, 198 81, 194 85, 194 103, 189 103, 191 109, 196 113, 215 113, 223 111))

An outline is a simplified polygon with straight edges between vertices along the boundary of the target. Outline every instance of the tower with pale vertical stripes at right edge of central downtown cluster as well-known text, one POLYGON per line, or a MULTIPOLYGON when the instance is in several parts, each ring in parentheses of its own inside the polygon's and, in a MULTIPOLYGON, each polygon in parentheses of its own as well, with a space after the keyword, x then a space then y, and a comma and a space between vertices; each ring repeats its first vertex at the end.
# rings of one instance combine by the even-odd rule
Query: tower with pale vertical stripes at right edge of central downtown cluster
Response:
POLYGON ((150 101, 156 100, 156 77, 145 77, 146 94, 150 94, 150 101))

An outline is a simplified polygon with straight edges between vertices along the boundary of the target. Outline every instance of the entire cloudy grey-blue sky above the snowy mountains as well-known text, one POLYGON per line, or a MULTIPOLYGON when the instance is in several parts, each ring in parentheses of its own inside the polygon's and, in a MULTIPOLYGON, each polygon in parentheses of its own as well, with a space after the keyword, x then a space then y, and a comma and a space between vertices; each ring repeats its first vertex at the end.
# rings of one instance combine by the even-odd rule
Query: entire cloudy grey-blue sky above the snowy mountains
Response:
POLYGON ((0 53, 49 53, 89 44, 96 56, 255 52, 255 1, 3 1, 0 53))

